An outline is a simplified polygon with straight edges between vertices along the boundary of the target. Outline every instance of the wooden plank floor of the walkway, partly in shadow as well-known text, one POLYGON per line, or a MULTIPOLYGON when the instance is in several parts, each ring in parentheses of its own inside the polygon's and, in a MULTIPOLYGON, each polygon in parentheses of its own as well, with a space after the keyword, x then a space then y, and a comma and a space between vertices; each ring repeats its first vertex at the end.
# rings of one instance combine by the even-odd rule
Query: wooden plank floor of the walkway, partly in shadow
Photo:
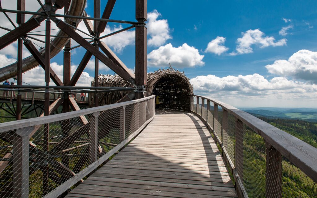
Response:
POLYGON ((67 197, 236 197, 236 191, 205 125, 190 113, 159 111, 67 197))

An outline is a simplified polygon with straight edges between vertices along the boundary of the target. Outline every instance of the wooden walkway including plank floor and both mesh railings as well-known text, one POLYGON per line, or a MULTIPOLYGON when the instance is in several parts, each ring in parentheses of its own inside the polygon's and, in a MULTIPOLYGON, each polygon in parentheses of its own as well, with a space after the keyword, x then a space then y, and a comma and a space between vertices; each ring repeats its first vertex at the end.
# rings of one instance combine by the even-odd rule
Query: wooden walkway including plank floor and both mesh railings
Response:
POLYGON ((316 148, 218 100, 189 99, 190 112, 155 112, 152 95, 1 123, 0 196, 316 197, 316 148))

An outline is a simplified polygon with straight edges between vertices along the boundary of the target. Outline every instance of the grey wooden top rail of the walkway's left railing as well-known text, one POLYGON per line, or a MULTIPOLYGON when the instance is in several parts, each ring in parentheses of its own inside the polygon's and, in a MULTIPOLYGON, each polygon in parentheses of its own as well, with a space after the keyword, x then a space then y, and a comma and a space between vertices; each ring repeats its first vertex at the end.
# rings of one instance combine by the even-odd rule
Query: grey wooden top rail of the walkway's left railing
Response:
POLYGON ((56 121, 61 121, 61 120, 65 120, 65 119, 75 118, 78 116, 87 115, 87 114, 94 113, 94 112, 100 112, 100 111, 105 111, 105 110, 109 110, 109 109, 114 109, 114 108, 118 108, 121 106, 126 106, 126 105, 139 103, 142 101, 146 101, 146 100, 152 99, 154 97, 155 97, 155 95, 152 95, 152 96, 148 96, 148 97, 141 98, 141 99, 120 102, 120 103, 115 103, 115 104, 111 104, 111 105, 97 106, 97 107, 92 107, 92 108, 88 108, 88 109, 81 109, 78 111, 60 113, 60 114, 43 116, 43 117, 38 117, 38 118, 29 118, 29 119, 24 119, 24 120, 4 122, 4 123, 0 123, 0 133, 6 132, 6 131, 13 131, 13 130, 17 130, 17 129, 22 129, 22 128, 29 127, 29 126, 43 125, 43 124, 48 124, 50 122, 56 122, 56 121))

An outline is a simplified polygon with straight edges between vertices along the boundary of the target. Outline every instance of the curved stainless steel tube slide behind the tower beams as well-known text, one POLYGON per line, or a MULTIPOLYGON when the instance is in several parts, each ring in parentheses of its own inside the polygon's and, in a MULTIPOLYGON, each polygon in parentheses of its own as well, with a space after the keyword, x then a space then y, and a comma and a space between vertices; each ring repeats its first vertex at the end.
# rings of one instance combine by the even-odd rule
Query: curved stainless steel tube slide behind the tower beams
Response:
MULTIPOLYGON (((82 16, 86 6, 86 0, 72 0, 69 6, 68 15, 73 16, 82 16)), ((65 22, 71 25, 78 23, 81 19, 69 19, 65 18, 65 22)), ((56 34, 58 36, 68 36, 63 31, 59 30, 56 34)), ((51 39, 51 58, 53 58, 56 54, 58 54, 62 48, 67 44, 69 38, 61 38, 61 37, 54 37, 51 39)), ((5 48, 3 49, 5 50, 5 48)), ((40 51, 41 54, 44 55, 45 49, 43 48, 40 51)), ((30 69, 37 67, 39 63, 35 60, 33 56, 29 56, 23 59, 22 64, 22 71, 26 72, 30 69)), ((11 65, 5 66, 0 68, 0 82, 13 78, 17 74, 17 63, 13 63, 11 65)))

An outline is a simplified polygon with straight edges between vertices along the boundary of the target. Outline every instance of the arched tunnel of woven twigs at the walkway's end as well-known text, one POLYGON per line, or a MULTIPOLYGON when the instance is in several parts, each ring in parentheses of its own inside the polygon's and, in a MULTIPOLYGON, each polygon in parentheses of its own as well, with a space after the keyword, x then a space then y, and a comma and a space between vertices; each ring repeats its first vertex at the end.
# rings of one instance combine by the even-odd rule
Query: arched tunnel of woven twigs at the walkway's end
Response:
MULTIPOLYGON (((171 68, 159 69, 147 74, 146 92, 148 95, 159 96, 159 108, 179 111, 190 111, 190 95, 193 94, 193 86, 184 72, 171 68)), ((92 81, 94 86, 94 81, 92 81)), ((99 86, 130 87, 131 84, 118 75, 99 75, 99 86)), ((100 93, 99 105, 109 105, 123 98, 128 91, 100 93)), ((91 94, 90 106, 94 106, 91 94)))

